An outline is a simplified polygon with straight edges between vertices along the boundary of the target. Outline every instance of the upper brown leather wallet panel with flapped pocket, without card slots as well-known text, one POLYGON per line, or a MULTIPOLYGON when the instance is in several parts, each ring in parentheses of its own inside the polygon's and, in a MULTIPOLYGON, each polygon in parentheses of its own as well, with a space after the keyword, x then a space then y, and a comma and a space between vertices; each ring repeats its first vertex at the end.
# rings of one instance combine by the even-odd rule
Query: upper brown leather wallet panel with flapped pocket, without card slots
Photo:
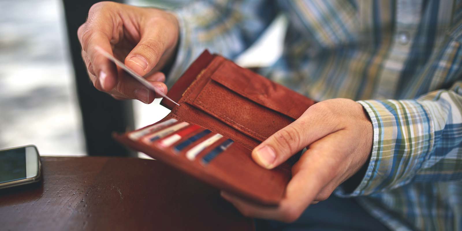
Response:
POLYGON ((263 141, 303 114, 305 108, 299 104, 306 108, 312 104, 311 100, 294 93, 225 60, 188 103, 243 134, 263 141), (291 105, 294 103, 297 107, 291 105))

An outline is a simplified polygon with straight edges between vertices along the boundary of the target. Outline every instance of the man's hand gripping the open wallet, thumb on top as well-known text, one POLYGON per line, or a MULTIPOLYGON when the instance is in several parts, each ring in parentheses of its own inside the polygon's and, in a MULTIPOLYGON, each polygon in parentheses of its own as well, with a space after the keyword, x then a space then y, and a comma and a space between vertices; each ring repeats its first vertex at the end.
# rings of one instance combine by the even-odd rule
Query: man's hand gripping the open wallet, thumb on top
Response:
POLYGON ((252 152, 255 162, 272 169, 308 148, 292 167, 292 179, 278 207, 254 205, 226 192, 221 195, 245 216, 295 221, 306 207, 326 200, 365 164, 372 134, 372 123, 361 104, 340 98, 316 103, 252 152))

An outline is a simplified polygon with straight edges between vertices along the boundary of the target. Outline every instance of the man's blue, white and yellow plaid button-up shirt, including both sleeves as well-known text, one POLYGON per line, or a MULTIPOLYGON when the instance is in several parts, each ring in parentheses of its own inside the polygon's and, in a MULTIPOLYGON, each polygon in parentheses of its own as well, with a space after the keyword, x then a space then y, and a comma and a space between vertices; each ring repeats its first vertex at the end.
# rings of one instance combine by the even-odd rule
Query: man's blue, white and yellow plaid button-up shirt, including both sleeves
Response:
POLYGON ((367 172, 335 193, 393 230, 462 230, 462 0, 219 0, 176 13, 168 85, 204 49, 234 59, 284 13, 284 52, 264 75, 318 101, 358 100, 371 117, 367 172))

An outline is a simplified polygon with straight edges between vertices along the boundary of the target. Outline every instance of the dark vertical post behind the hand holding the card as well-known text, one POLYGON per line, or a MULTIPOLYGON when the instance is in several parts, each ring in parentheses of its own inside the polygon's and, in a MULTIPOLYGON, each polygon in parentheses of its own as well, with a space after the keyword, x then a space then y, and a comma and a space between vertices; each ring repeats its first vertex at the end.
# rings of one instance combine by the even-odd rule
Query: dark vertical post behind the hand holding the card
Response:
POLYGON ((67 35, 75 73, 75 84, 85 134, 88 155, 134 156, 112 139, 111 133, 133 129, 133 109, 130 101, 118 101, 96 90, 88 79, 84 61, 80 55, 77 29, 83 24, 90 7, 97 0, 63 0, 67 35))

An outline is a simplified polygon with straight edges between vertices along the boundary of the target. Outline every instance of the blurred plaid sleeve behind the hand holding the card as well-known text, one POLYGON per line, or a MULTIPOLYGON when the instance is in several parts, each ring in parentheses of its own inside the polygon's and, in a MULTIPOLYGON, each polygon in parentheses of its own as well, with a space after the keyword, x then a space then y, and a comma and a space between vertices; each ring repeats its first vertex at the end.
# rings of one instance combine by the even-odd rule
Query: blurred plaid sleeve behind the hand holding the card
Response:
POLYGON ((194 1, 173 12, 180 40, 167 86, 204 51, 234 59, 254 43, 276 17, 271 0, 194 1))

